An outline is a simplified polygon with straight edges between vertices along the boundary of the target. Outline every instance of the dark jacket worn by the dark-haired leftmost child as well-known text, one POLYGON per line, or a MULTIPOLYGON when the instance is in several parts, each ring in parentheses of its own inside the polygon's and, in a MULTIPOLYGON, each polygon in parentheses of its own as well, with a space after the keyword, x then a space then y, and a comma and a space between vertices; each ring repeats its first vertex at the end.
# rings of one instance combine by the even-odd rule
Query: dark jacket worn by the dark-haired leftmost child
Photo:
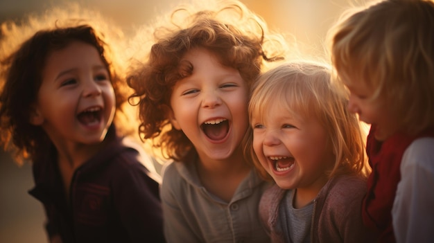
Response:
POLYGON ((66 201, 55 152, 33 162, 35 188, 44 205, 49 236, 69 242, 164 242, 159 177, 140 162, 141 147, 116 136, 74 172, 66 201))

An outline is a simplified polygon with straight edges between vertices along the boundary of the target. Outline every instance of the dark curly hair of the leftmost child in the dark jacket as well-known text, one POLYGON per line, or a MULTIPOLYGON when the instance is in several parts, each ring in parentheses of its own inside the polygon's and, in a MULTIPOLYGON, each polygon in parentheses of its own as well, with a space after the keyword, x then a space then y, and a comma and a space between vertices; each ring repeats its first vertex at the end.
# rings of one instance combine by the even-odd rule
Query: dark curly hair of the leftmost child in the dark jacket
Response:
MULTIPOLYGON (((11 38, 17 35, 28 35, 28 30, 17 30, 17 24, 6 22, 1 25, 0 55, 0 131, 1 141, 5 150, 15 152, 16 161, 21 164, 23 159, 39 158, 52 143, 44 130, 29 123, 31 107, 37 99, 37 93, 42 84, 42 70, 46 58, 71 42, 79 41, 96 48, 103 64, 110 73, 110 80, 116 96, 116 120, 125 120, 127 115, 122 107, 128 105, 128 90, 123 75, 113 62, 112 50, 105 42, 105 35, 89 24, 83 24, 83 19, 65 21, 67 24, 55 24, 53 27, 38 30, 21 44, 7 46, 11 38), (60 26, 62 25, 62 26, 60 26), (8 47, 6 49, 5 47, 8 47)), ((28 23, 29 25, 30 22, 28 23)), ((121 129, 122 132, 133 132, 133 128, 121 129)))

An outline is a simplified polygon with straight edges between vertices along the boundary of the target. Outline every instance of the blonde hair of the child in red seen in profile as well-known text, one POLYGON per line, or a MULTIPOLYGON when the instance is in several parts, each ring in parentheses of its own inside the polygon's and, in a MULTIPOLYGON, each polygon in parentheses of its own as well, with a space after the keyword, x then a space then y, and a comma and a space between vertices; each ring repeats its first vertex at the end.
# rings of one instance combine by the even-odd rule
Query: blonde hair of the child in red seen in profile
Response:
POLYGON ((342 15, 329 31, 336 78, 365 82, 400 129, 434 125, 434 3, 388 0, 342 15))

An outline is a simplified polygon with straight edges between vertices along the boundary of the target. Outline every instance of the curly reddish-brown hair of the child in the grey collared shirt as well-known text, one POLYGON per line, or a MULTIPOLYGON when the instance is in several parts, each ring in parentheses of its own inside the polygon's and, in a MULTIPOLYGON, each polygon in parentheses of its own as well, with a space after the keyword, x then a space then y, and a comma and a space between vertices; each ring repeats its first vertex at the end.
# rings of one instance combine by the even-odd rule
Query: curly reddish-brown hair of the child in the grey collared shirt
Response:
POLYGON ((139 134, 142 140, 151 138, 166 159, 184 161, 196 154, 189 138, 171 127, 168 116, 173 86, 191 75, 191 64, 181 62, 185 53, 192 48, 207 49, 221 64, 237 69, 250 87, 264 64, 283 59, 286 51, 281 35, 269 33, 261 17, 242 3, 225 1, 212 9, 175 9, 170 17, 173 28, 154 30, 155 41, 145 61, 136 64, 127 76, 134 89, 130 102, 139 105, 139 134))

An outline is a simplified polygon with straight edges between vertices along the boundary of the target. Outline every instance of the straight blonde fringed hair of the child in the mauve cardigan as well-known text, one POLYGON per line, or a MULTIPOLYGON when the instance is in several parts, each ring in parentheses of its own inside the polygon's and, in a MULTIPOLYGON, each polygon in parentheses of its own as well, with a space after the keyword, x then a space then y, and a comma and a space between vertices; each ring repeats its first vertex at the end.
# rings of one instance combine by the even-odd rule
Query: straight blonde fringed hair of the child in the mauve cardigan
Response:
MULTIPOLYGON (((261 120, 267 109, 279 103, 291 116, 317 118, 329 134, 336 155, 329 177, 359 174, 367 177, 363 133, 355 114, 347 110, 347 98, 331 82, 328 66, 316 62, 290 62, 264 73, 253 84, 249 118, 261 120)), ((245 152, 250 153, 262 177, 270 179, 252 148, 252 130, 245 152)))

